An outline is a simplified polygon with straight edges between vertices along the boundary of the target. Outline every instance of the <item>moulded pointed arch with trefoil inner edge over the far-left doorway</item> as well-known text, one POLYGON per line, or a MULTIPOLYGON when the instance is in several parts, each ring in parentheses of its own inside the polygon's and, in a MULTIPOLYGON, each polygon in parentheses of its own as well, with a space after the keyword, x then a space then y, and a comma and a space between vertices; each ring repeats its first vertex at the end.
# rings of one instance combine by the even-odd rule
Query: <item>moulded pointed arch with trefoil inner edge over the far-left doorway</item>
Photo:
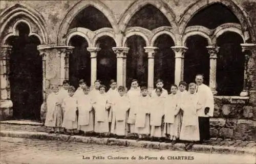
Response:
POLYGON ((46 30, 46 21, 35 9, 26 5, 15 4, 0 14, 0 38, 5 41, 7 36, 16 36, 16 25, 24 22, 29 26, 30 36, 37 36, 41 44, 47 44, 49 35, 46 30), (15 19, 19 17, 19 20, 15 19))

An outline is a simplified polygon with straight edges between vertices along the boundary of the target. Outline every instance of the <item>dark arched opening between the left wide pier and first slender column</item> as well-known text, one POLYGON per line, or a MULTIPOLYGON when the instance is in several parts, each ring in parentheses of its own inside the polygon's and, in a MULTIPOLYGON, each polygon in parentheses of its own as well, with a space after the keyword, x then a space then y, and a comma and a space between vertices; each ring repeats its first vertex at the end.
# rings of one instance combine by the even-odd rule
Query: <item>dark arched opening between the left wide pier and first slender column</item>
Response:
POLYGON ((79 80, 84 79, 87 86, 91 86, 91 54, 87 51, 88 43, 86 39, 74 36, 70 40, 70 45, 75 47, 73 53, 69 56, 71 85, 77 88, 79 80))

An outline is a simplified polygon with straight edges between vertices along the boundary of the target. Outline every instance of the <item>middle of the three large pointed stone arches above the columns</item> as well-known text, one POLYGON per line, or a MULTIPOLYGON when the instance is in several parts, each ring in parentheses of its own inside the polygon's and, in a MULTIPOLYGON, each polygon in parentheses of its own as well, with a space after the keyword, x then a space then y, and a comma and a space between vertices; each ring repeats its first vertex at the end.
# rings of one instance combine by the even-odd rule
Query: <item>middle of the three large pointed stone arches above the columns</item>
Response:
POLYGON ((124 31, 126 28, 127 23, 131 20, 133 15, 139 11, 142 7, 145 5, 153 5, 157 9, 159 9, 168 19, 169 23, 172 25, 173 29, 177 28, 177 22, 175 19, 175 13, 173 12, 172 9, 170 9, 163 1, 144 1, 144 0, 139 0, 135 1, 132 3, 126 11, 122 14, 120 17, 118 24, 119 24, 119 29, 120 31, 124 31))

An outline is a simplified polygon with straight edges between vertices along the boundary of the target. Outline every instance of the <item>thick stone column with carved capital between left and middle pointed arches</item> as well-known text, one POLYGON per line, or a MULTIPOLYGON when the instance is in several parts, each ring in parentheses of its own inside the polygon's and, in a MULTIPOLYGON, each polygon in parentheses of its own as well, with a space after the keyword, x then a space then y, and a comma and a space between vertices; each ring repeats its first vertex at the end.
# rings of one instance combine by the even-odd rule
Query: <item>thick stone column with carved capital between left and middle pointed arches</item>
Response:
POLYGON ((126 54, 128 53, 128 47, 113 47, 113 51, 116 53, 117 58, 117 85, 125 86, 125 77, 126 77, 126 54))

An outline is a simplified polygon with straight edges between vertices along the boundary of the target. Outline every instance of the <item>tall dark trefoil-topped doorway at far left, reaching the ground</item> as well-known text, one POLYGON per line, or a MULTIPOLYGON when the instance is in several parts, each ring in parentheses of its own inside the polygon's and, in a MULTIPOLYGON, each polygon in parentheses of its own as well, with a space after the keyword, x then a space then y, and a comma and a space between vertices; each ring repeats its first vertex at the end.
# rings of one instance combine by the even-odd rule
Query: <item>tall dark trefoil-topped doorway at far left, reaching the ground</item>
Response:
POLYGON ((25 23, 17 26, 18 37, 8 39, 10 56, 10 86, 15 119, 39 120, 42 104, 42 60, 37 50, 40 41, 28 36, 25 23))

